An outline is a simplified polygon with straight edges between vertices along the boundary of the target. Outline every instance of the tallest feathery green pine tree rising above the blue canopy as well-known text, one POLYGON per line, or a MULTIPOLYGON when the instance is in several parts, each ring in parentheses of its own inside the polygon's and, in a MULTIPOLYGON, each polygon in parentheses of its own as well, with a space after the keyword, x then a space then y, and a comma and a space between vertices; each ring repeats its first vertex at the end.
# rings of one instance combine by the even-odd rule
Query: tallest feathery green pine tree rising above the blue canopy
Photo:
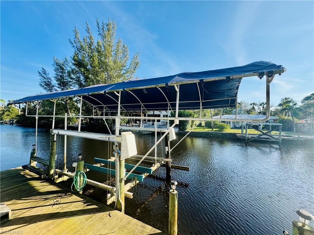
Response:
POLYGON ((95 40, 86 22, 86 35, 80 39, 75 27, 74 39, 70 40, 74 52, 73 72, 76 86, 112 84, 134 78, 139 67, 139 53, 133 55, 129 64, 129 50, 120 38, 116 39, 116 22, 96 20, 98 39, 95 40))

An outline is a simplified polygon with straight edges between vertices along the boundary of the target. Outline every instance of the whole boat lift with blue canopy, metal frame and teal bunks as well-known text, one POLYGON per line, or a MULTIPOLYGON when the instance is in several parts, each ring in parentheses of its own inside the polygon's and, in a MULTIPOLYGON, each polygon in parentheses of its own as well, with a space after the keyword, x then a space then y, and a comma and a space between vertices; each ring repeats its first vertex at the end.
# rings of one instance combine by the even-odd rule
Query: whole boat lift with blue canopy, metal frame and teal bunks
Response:
MULTIPOLYGON (((107 196, 107 202, 116 203, 116 208, 120 211, 124 211, 124 197, 132 197, 131 193, 128 193, 131 187, 137 184, 138 181, 142 181, 147 175, 152 174, 154 170, 160 166, 166 167, 166 177, 171 178, 171 164, 172 159, 170 157, 171 151, 184 139, 185 135, 175 146, 170 147, 170 141, 175 137, 174 127, 180 121, 197 121, 197 124, 192 130, 202 121, 230 121, 230 119, 217 119, 217 118, 202 118, 203 109, 214 108, 226 108, 235 107, 236 115, 234 121, 240 122, 265 122, 270 116, 270 83, 273 81, 276 74, 281 75, 285 72, 285 68, 282 65, 275 65, 266 61, 257 61, 248 65, 238 66, 227 69, 208 70, 203 72, 184 72, 172 76, 152 78, 135 81, 123 81, 110 85, 95 85, 85 87, 81 89, 71 89, 66 91, 50 92, 46 94, 37 94, 22 99, 16 100, 12 103, 26 103, 26 116, 36 118, 36 131, 35 131, 35 147, 32 151, 31 159, 37 158, 37 124, 40 117, 52 117, 52 129, 51 142, 50 142, 50 158, 48 165, 48 176, 50 179, 55 179, 55 173, 61 174, 66 177, 73 177, 73 174, 66 169, 66 140, 67 136, 76 136, 81 138, 98 139, 103 141, 109 141, 114 147, 114 158, 109 159, 97 159, 95 158, 95 165, 85 164, 86 170, 93 170, 108 175, 116 176, 115 187, 105 185, 92 180, 87 180, 90 185, 95 185, 100 188, 108 190, 110 193, 107 196), (262 79, 265 77, 266 83, 266 117, 264 119, 239 119, 237 118, 237 97, 238 90, 241 83, 241 79, 244 77, 258 77, 262 79), (58 98, 64 99, 65 97, 76 97, 80 101, 80 110, 78 115, 56 115, 56 100, 58 98), (38 115, 39 102, 43 100, 51 100, 54 102, 53 115, 38 115), (82 103, 88 102, 103 112, 101 116, 82 115, 82 103), (36 115, 28 114, 28 103, 37 102, 36 115), (167 110, 174 111, 174 117, 163 117, 168 121, 167 128, 144 128, 143 112, 146 111, 162 111, 167 110), (179 117, 179 110, 199 110, 199 118, 185 118, 179 117), (139 127, 122 127, 120 120, 127 118, 121 115, 122 112, 138 111, 141 113, 140 117, 132 117, 140 120, 139 127), (111 112, 115 112, 114 116, 111 116, 111 112), (107 113, 107 114, 106 114, 107 113), (65 119, 65 129, 55 129, 55 118, 61 117, 65 119), (67 130, 67 117, 75 117, 79 119, 78 131, 67 130), (89 133, 81 131, 82 118, 100 118, 106 123, 107 119, 115 120, 115 133, 114 134, 99 134, 89 133), (169 126, 169 121, 173 121, 173 124, 169 126), (135 153, 134 135, 131 132, 122 132, 122 130, 140 130, 140 131, 153 131, 155 133, 155 143, 149 149, 149 151, 141 156, 135 153), (161 132, 161 138, 157 139, 157 132, 161 132), (56 168, 56 136, 64 135, 65 152, 64 152, 64 167, 63 170, 56 168), (123 136, 127 140, 123 142, 123 136), (133 135, 133 137, 132 137, 133 135), (165 139, 165 157, 157 157, 157 145, 165 139), (132 144, 133 143, 133 144, 132 144), (125 146, 125 144, 127 146, 125 146), (121 149, 121 151, 120 151, 121 149), (148 156, 154 150, 154 157, 148 156), (137 161, 136 165, 125 164, 125 159, 131 157, 132 160, 137 161), (152 166, 150 168, 140 166, 141 163, 146 163, 148 160, 152 166), (101 167, 101 164, 108 165, 108 168, 101 167), (111 166, 115 166, 116 170, 111 170, 111 166), (128 172, 125 171, 128 170, 128 172), (135 174, 134 172, 141 172, 135 174), (131 182, 125 184, 127 179, 131 179, 131 182)), ((154 118, 149 118, 154 119, 154 118)), ((159 118, 155 118, 155 123, 159 118)), ((107 123, 106 123, 107 125, 107 123)), ((107 125, 108 127, 108 125, 107 125)), ((109 129, 109 128, 108 128, 109 129)), ((108 156, 109 157, 109 156, 108 156)), ((35 167, 35 160, 30 164, 35 167)), ((175 167, 173 168, 175 169, 175 167)), ((176 169, 188 170, 188 167, 177 166, 176 169), (181 169, 180 169, 181 167, 181 169)), ((58 180, 58 179, 56 179, 58 180)))

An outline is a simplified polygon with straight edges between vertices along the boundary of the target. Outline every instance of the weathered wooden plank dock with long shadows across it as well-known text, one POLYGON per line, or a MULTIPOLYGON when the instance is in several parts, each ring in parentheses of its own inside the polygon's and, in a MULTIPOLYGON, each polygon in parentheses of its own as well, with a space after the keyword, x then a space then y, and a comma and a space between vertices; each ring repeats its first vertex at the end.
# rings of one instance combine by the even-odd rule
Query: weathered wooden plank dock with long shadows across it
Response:
POLYGON ((165 235, 85 195, 40 180, 22 167, 0 172, 0 200, 12 211, 5 234, 165 235))

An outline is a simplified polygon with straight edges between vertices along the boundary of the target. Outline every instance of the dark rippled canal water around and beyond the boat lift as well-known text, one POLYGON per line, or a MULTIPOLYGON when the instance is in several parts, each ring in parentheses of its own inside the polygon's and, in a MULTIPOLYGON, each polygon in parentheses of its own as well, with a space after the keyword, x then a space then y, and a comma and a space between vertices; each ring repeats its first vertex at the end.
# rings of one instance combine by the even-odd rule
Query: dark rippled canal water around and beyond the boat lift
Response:
MULTIPOLYGON (((1 170, 27 164, 35 129, 1 125, 0 132, 1 170)), ((182 137, 171 141, 171 146, 182 137)), ((48 159, 49 140, 49 131, 39 129, 39 157, 48 159)), ((154 135, 136 134, 136 140, 138 154, 143 155, 154 144, 154 135)), ((164 144, 158 147, 158 155, 164 154, 164 148, 164 144)), ((61 169, 63 137, 58 138, 57 150, 61 169)), ((313 152, 313 143, 297 141, 283 142, 279 149, 268 143, 185 138, 171 152, 173 164, 190 167, 190 171, 172 170, 172 179, 178 181, 178 233, 279 235, 287 230, 292 234, 295 211, 313 213, 313 152)), ((93 164, 94 157, 108 158, 108 143, 68 137, 68 168, 78 153, 93 164)), ((101 182, 109 180, 91 171, 87 175, 101 182)), ((160 167, 130 190, 133 199, 126 198, 126 214, 167 231, 169 190, 165 168, 160 167)), ((84 193, 106 202, 106 191, 86 186, 84 193)))

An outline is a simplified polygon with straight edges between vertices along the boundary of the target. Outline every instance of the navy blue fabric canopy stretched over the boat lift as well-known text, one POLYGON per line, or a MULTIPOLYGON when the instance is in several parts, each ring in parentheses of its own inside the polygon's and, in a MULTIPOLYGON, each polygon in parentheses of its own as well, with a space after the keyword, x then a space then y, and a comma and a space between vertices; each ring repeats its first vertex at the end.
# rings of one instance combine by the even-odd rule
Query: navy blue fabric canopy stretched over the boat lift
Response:
POLYGON ((242 77, 281 74, 284 71, 282 65, 256 61, 226 69, 183 72, 166 77, 37 94, 13 103, 79 96, 99 110, 117 111, 118 96, 115 91, 120 91, 122 111, 175 110, 177 92, 174 85, 179 85, 179 110, 235 107, 242 77))

